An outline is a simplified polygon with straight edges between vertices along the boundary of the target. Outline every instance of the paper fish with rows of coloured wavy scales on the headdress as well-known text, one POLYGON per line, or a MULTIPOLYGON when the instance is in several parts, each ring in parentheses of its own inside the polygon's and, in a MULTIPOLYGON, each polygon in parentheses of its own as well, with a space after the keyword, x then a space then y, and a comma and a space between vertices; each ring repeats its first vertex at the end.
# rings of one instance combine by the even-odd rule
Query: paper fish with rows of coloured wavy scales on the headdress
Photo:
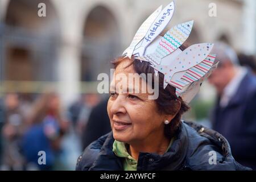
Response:
POLYGON ((146 55, 151 64, 160 64, 163 57, 170 55, 177 48, 179 48, 191 34, 193 27, 193 20, 185 22, 172 27, 166 34, 160 39, 158 46, 154 53, 146 55))

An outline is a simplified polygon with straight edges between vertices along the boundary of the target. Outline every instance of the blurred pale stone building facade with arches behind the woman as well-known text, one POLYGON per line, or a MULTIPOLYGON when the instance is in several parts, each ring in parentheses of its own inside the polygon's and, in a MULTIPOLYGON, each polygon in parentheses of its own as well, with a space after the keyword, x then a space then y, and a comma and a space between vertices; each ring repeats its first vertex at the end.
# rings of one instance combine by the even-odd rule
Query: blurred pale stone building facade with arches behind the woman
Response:
MULTIPOLYGON (((66 104, 80 93, 81 81, 109 73, 140 24, 168 0, 0 0, 0 79, 57 81, 66 104), (46 4, 46 17, 38 4, 46 4)), ((254 0, 176 0, 171 26, 194 19, 191 42, 225 37, 237 50, 256 52, 254 0), (210 3, 217 16, 210 17, 210 3)))

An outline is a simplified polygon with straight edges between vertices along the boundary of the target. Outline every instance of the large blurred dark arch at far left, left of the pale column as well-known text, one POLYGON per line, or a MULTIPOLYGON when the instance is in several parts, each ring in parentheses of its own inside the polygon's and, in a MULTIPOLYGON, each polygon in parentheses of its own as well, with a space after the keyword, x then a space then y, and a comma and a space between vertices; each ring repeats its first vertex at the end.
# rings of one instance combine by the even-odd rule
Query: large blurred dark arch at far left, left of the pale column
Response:
POLYGON ((3 80, 54 81, 59 20, 48 0, 11 0, 3 24, 3 80), (46 4, 46 17, 38 4, 46 4))

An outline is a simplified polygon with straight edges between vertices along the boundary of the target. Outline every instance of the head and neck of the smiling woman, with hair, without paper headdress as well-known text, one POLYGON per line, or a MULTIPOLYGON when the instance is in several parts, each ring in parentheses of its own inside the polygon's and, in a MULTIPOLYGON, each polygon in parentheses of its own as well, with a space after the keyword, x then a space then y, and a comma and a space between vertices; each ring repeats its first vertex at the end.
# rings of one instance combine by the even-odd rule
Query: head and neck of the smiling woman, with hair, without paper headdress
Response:
MULTIPOLYGON (((136 59, 121 57, 113 63, 115 75, 123 73, 128 77, 131 73, 154 74, 154 69, 148 63, 140 63, 136 59)), ((141 80, 143 81, 147 82, 147 80, 141 80)), ((160 76, 159 82, 163 83, 163 75, 160 76)), ((118 85, 119 80, 113 80, 111 85, 113 83, 118 85)), ((133 84, 127 84, 128 88, 142 90, 143 84, 135 85, 133 81, 127 81, 127 83, 133 84)), ((148 93, 126 93, 116 88, 110 90, 108 102, 113 136, 115 140, 129 144, 128 149, 135 160, 138 160, 139 152, 155 152, 163 155, 180 126, 181 114, 188 108, 176 96, 175 89, 171 85, 168 85, 166 89, 160 85, 159 97, 156 100, 148 100, 148 93)))

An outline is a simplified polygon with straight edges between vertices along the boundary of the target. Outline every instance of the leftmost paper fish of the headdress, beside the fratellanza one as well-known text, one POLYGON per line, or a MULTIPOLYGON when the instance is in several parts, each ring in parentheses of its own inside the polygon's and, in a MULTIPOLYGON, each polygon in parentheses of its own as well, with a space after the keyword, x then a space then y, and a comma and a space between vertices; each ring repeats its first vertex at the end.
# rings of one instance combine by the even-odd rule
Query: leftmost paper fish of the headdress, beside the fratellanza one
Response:
POLYGON ((158 9, 156 9, 154 11, 154 13, 152 13, 141 25, 141 27, 139 27, 138 31, 136 32, 133 41, 131 42, 130 46, 123 52, 123 55, 128 56, 129 58, 131 58, 131 55, 133 55, 133 51, 134 48, 137 46, 137 44, 139 42, 141 42, 141 40, 145 37, 145 35, 147 34, 148 29, 151 27, 152 23, 155 21, 156 17, 159 16, 159 14, 162 11, 162 6, 158 7, 158 9))

